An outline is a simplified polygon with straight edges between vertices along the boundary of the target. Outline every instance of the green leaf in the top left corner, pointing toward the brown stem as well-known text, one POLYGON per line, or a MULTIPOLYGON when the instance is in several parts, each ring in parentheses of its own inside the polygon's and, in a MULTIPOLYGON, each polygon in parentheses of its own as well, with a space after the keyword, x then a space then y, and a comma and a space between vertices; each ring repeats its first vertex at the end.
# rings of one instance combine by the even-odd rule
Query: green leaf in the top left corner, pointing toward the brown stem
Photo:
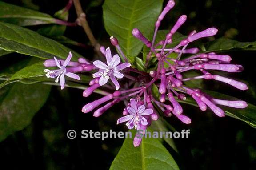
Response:
POLYGON ((22 8, 0 1, 0 21, 20 26, 51 24, 54 18, 48 14, 22 8))

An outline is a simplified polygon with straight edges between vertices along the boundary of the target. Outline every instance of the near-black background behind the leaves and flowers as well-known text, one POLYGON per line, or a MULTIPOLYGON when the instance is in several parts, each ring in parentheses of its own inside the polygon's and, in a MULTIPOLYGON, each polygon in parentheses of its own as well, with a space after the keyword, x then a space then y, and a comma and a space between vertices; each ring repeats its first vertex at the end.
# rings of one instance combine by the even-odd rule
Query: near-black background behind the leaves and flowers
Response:
MULTIPOLYGON (((64 8, 68 0, 4 0, 11 4, 37 9, 53 15, 64 8)), ((103 0, 81 0, 88 22, 96 39, 108 43, 108 34, 102 19, 103 0)), ((166 2, 165 2, 166 3, 166 2)), ((256 40, 255 0, 176 0, 176 7, 168 13, 161 29, 171 28, 182 14, 188 20, 179 32, 188 33, 193 29, 203 30, 216 27, 216 38, 225 36, 248 42, 256 40)), ((72 7, 70 18, 76 20, 72 7)), ((30 27, 37 29, 36 27, 30 27)), ((80 43, 88 39, 80 27, 67 28, 65 36, 80 43)), ((110 45, 109 45, 110 46, 110 45)), ((92 47, 72 47, 87 58, 92 58, 92 47)), ((222 92, 256 104, 255 100, 255 55, 254 51, 228 52, 234 63, 244 66, 244 72, 231 77, 247 81, 250 89, 239 91, 210 81, 206 89, 222 92)), ((35 115, 31 125, 12 134, 0 142, 0 165, 9 169, 27 168, 42 170, 108 169, 115 158, 122 139, 76 139, 70 140, 66 132, 88 129, 93 131, 125 131, 124 124, 116 126, 124 106, 119 104, 100 118, 92 113, 83 114, 84 104, 100 95, 82 97, 82 90, 53 87, 47 103, 35 115)), ((218 118, 211 111, 206 113, 198 108, 185 106, 184 112, 192 118, 191 125, 184 125, 177 119, 167 118, 177 130, 191 129, 190 138, 177 139, 179 154, 173 154, 181 169, 198 170, 254 170, 256 168, 256 132, 248 124, 225 117, 218 118)))

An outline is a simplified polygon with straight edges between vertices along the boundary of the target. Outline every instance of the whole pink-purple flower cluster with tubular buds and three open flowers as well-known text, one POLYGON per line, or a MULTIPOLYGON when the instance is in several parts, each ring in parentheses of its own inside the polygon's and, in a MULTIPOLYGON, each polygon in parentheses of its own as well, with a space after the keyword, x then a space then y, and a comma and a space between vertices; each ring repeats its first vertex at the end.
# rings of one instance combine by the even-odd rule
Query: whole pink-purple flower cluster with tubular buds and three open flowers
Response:
MULTIPOLYGON (((245 83, 221 75, 213 75, 209 72, 211 70, 226 72, 242 71, 243 67, 241 65, 230 63, 232 60, 230 56, 218 55, 214 52, 199 53, 200 50, 195 47, 187 49, 190 43, 200 38, 216 35, 218 31, 216 28, 208 28, 201 32, 192 31, 184 40, 181 40, 178 45, 173 48, 168 48, 168 45, 172 44, 172 36, 187 20, 187 16, 183 15, 180 16, 176 24, 168 32, 165 40, 155 43, 160 23, 174 5, 174 0, 169 0, 168 4, 161 12, 155 24, 155 32, 152 41, 145 38, 139 29, 135 28, 132 30, 132 35, 142 41, 145 46, 150 49, 147 55, 146 66, 153 57, 156 57, 158 62, 155 70, 143 72, 132 68, 132 65, 122 52, 118 40, 111 37, 110 41, 124 59, 124 63, 121 62, 119 55, 116 54, 112 57, 109 47, 107 49, 101 47, 100 51, 105 56, 106 63, 99 60, 91 63, 82 58, 80 58, 78 62, 71 62, 69 58, 69 62, 67 60, 62 61, 57 59, 46 60, 44 63, 45 67, 57 66, 60 68, 59 70, 46 69, 46 75, 49 78, 57 77, 57 79, 60 76, 60 79, 62 79, 60 85, 64 88, 64 75, 79 79, 74 73, 97 70, 92 74, 93 79, 89 83, 90 87, 84 90, 83 96, 88 97, 101 86, 107 89, 105 92, 106 95, 86 104, 82 108, 82 112, 88 113, 96 109, 93 116, 98 117, 114 104, 123 101, 126 105, 123 111, 124 116, 117 120, 117 124, 127 122, 126 126, 128 129, 135 128, 136 130, 145 130, 150 126, 152 120, 154 121, 159 118, 160 115, 156 111, 156 108, 161 110, 162 115, 166 117, 174 115, 183 123, 191 123, 191 119, 184 115, 183 108, 179 103, 179 100, 186 100, 186 95, 191 96, 196 101, 200 110, 206 111, 207 108, 209 108, 220 117, 225 116, 225 113, 217 105, 239 109, 247 107, 247 103, 244 101, 214 99, 200 89, 193 89, 184 84, 185 81, 192 79, 214 79, 227 83, 240 90, 248 89, 245 83), (169 57, 172 53, 177 54, 175 59, 169 57), (183 54, 191 54, 191 56, 182 58, 183 54), (166 67, 166 65, 168 65, 168 67, 166 67), (199 71, 201 75, 184 79, 182 73, 190 70, 199 71), (121 81, 120 85, 118 81, 123 78, 125 79, 121 81), (107 84, 109 79, 112 81, 112 84, 107 84), (156 85, 159 89, 159 98, 153 95, 153 85, 156 85)), ((135 137, 133 142, 134 146, 139 146, 141 140, 142 138, 135 137)))

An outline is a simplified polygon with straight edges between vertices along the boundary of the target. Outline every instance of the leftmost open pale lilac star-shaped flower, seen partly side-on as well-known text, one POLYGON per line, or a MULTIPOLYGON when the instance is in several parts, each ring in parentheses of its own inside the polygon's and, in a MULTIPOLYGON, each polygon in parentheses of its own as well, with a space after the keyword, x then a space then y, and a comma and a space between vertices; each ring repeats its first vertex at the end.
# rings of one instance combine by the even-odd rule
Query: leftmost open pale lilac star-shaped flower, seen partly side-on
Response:
POLYGON ((68 63, 70 62, 71 58, 72 58, 72 54, 71 54, 71 52, 69 52, 67 59, 61 65, 60 60, 58 60, 58 59, 56 59, 56 57, 54 57, 56 66, 59 67, 60 69, 57 69, 57 70, 45 69, 44 70, 44 72, 47 73, 46 77, 52 78, 52 79, 56 78, 55 79, 56 83, 58 83, 59 80, 60 80, 61 90, 64 89, 64 87, 65 87, 65 77, 64 77, 64 75, 66 75, 66 76, 68 76, 68 77, 70 77, 72 79, 80 80, 79 75, 76 75, 76 74, 74 74, 72 72, 68 72, 66 70, 66 67, 67 67, 68 63))

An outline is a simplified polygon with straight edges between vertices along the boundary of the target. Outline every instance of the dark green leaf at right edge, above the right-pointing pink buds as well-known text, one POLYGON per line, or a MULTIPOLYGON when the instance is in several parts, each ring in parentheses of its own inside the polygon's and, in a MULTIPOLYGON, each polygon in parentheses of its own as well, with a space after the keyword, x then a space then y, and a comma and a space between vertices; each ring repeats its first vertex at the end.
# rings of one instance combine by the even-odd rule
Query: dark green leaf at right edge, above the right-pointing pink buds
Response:
POLYGON ((206 43, 205 52, 228 50, 256 50, 256 41, 243 43, 227 38, 220 38, 212 42, 206 43))

